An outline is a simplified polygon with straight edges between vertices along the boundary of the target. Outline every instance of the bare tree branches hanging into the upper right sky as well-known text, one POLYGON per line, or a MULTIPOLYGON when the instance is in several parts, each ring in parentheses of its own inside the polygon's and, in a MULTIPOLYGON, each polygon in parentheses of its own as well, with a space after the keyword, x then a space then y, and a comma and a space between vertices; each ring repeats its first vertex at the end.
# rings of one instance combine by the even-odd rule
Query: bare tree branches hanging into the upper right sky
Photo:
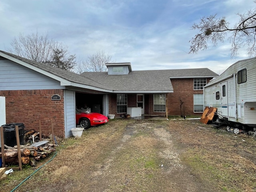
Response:
MULTIPOLYGON (((256 3, 256 1, 254 1, 256 3)), ((201 18, 199 24, 192 26, 193 30, 200 32, 190 40, 190 52, 197 53, 199 50, 206 50, 208 42, 211 41, 213 46, 218 42, 224 42, 227 34, 230 34, 231 57, 237 56, 239 48, 247 47, 248 55, 256 55, 256 9, 248 10, 245 14, 237 14, 240 19, 233 28, 229 28, 229 22, 225 17, 216 18, 216 14, 201 18)))

